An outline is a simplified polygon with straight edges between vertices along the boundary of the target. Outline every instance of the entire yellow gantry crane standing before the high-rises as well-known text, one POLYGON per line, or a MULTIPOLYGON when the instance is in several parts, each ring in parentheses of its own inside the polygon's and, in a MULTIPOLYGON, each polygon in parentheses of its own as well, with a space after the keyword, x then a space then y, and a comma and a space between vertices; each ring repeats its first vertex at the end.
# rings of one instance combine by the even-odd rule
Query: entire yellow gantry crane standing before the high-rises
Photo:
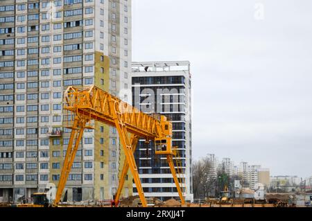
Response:
POLYGON ((93 127, 88 125, 92 120, 116 127, 125 152, 123 170, 119 178, 119 187, 114 199, 116 205, 118 205, 125 177, 130 168, 141 204, 144 207, 147 206, 134 157, 134 152, 140 138, 148 142, 155 142, 155 154, 166 155, 181 203, 185 203, 180 186, 181 181, 179 182, 177 179, 177 173, 173 163, 173 157, 177 154, 177 150, 172 147, 172 124, 166 120, 165 116, 157 117, 145 114, 139 111, 139 109, 132 107, 132 105, 95 86, 85 89, 68 87, 64 93, 64 109, 71 112, 73 125, 69 127, 71 129, 71 136, 60 175, 58 191, 55 195, 55 205, 58 205, 62 197, 62 192, 78 150, 78 145, 83 137, 83 132, 86 128, 93 129, 93 127))

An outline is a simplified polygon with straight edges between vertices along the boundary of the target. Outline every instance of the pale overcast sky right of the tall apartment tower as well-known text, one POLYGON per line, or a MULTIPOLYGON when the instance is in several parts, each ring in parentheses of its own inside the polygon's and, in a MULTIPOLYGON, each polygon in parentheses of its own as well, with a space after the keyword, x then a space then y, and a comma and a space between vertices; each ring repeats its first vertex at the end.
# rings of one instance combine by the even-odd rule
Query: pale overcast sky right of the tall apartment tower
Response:
POLYGON ((191 62, 193 159, 312 175, 311 0, 132 0, 132 60, 191 62))

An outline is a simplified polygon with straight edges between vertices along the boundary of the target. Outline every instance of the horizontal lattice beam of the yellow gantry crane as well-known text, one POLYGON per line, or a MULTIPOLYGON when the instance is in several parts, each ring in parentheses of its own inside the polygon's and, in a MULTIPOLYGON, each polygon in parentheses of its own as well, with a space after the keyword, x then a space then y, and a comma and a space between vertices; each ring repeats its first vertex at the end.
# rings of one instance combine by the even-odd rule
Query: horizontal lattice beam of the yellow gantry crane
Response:
POLYGON ((69 87, 65 92, 64 99, 64 109, 79 116, 85 116, 115 127, 114 116, 112 115, 114 110, 108 105, 111 99, 113 103, 119 106, 121 118, 128 132, 148 139, 154 139, 155 136, 163 136, 161 134, 162 130, 159 128, 161 125, 160 116, 145 114, 98 87, 92 86, 81 90, 69 87))

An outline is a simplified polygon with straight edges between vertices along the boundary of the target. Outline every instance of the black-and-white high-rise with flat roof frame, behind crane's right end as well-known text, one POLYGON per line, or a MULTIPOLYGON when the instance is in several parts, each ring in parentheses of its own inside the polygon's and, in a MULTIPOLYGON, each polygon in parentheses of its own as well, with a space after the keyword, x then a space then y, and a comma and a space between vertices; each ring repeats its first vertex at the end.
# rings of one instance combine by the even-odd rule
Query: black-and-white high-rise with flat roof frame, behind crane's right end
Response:
MULTIPOLYGON (((173 123, 184 194, 186 200, 193 200, 189 68, 189 62, 132 62, 132 103, 143 112, 163 114, 173 123)), ((154 149, 153 143, 139 141, 135 153, 144 193, 161 200, 178 197, 166 157, 156 156, 154 149)))

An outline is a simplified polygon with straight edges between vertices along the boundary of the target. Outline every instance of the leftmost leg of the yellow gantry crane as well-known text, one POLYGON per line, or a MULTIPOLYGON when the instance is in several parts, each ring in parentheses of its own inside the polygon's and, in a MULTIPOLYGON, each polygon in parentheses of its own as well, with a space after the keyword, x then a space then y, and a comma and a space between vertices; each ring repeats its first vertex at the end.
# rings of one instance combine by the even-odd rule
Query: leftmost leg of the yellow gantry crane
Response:
POLYGON ((60 182, 58 183, 58 191, 55 195, 55 204, 57 205, 60 202, 62 197, 62 192, 64 190, 67 178, 71 171, 71 166, 73 165, 73 160, 75 159, 76 152, 78 150, 78 145, 80 143, 81 138, 83 137, 83 131, 85 130, 85 121, 81 121, 78 116, 75 117, 75 121, 73 122, 73 127, 71 130, 71 136, 68 143, 68 148, 66 152, 66 156, 64 159, 64 164, 62 166, 62 173, 60 176, 60 182), (73 141, 76 138, 76 143, 73 145, 73 141))

